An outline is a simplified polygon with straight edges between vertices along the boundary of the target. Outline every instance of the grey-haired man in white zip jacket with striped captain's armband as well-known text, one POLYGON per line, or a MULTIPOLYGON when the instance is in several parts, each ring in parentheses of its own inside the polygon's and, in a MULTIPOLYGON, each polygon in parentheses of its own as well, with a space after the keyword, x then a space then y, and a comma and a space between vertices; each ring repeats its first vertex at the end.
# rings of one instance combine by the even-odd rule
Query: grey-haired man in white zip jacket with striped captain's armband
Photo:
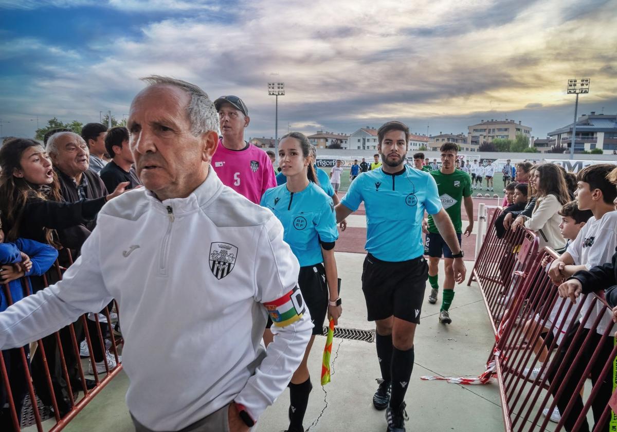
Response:
POLYGON ((137 431, 249 431, 286 388, 312 333, 299 264, 264 207, 223 185, 217 112, 165 77, 131 104, 145 188, 104 206, 64 279, 0 314, 0 349, 23 346, 116 299, 137 431), (270 314, 274 342, 260 340, 270 314))

